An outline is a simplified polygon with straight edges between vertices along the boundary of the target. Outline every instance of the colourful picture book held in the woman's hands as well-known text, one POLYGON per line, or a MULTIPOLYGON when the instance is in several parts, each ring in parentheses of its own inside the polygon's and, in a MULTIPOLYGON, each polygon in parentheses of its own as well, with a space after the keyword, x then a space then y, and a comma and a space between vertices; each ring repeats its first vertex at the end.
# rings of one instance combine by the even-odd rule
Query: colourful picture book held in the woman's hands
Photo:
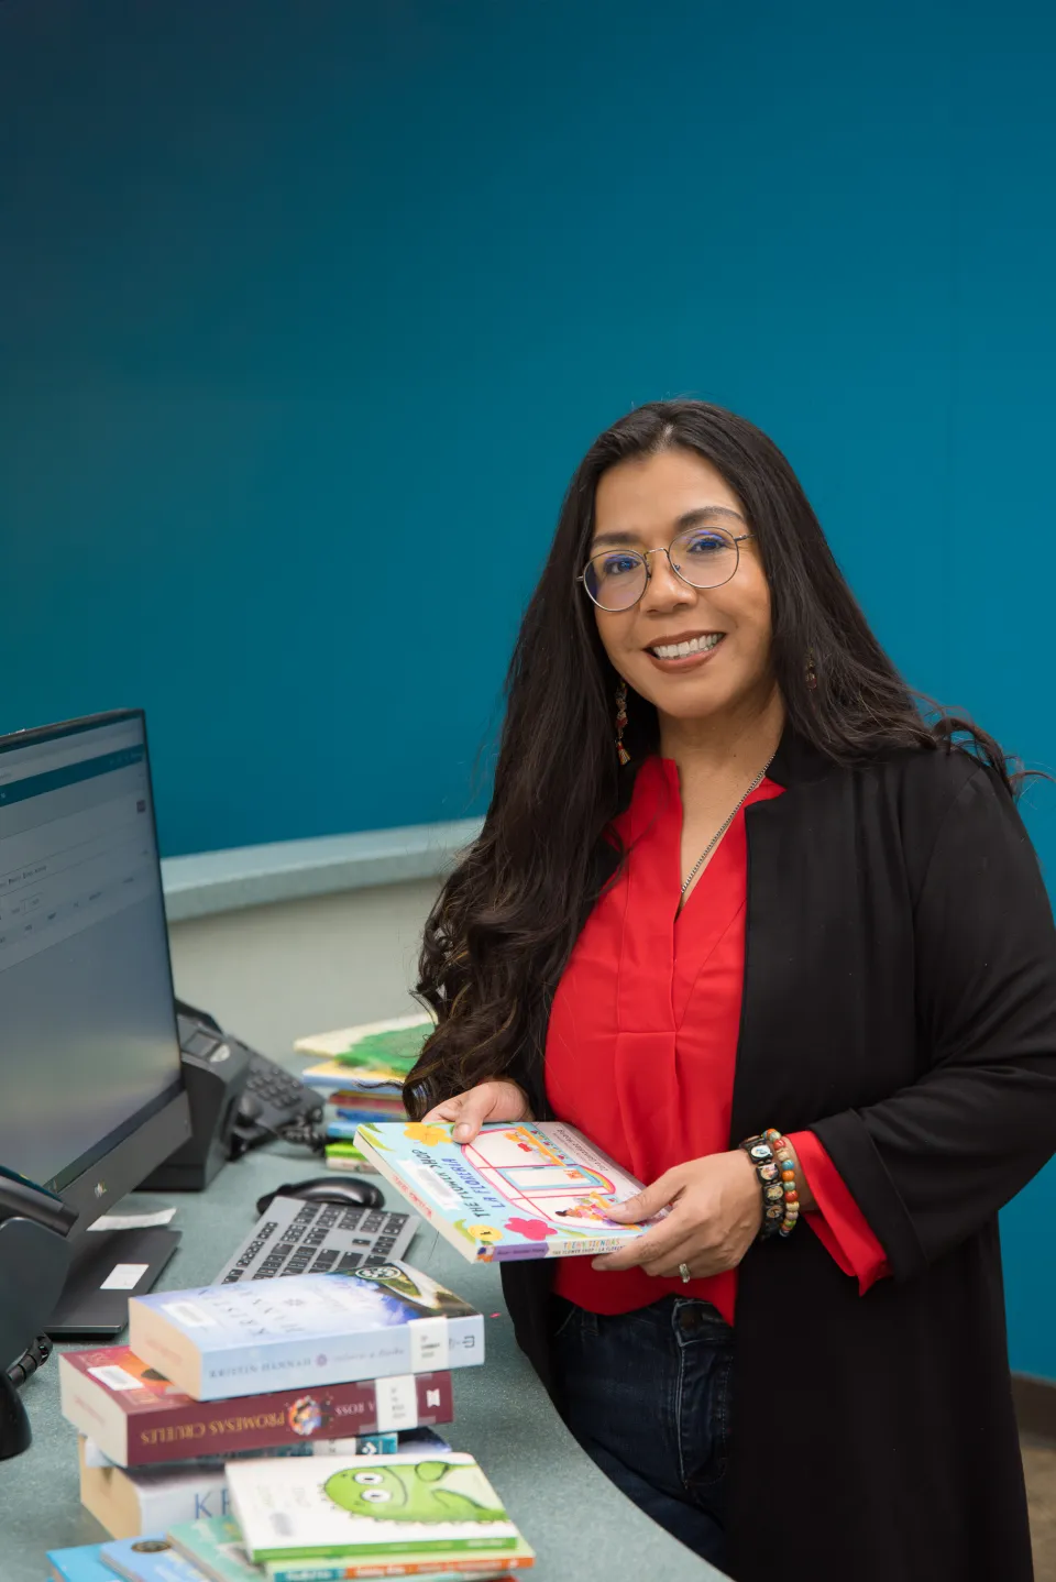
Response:
POLYGON ((605 1213, 642 1191, 564 1122, 485 1126, 454 1142, 439 1122, 370 1122, 356 1147, 471 1262, 598 1258, 642 1236, 605 1213))

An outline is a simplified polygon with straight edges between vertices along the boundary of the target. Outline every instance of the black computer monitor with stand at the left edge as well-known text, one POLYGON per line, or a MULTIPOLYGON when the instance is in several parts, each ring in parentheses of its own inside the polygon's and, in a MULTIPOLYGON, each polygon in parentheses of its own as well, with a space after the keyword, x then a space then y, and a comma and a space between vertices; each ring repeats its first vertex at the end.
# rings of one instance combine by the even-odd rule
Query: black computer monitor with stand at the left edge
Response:
POLYGON ((142 710, 3 736, 0 1164, 77 1213, 49 1334, 123 1327, 177 1232, 90 1226, 188 1136, 142 710))

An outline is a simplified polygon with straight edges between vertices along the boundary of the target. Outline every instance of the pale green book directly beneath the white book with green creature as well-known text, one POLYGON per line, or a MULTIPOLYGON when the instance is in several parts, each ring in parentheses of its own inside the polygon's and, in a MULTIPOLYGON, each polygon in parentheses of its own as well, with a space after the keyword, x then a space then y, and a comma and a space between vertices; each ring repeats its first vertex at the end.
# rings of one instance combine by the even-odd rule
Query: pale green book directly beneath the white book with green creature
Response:
POLYGON ((519 1541, 515 1549, 503 1550, 498 1565, 490 1555, 455 1552, 432 1552, 428 1555, 394 1558, 386 1555, 367 1561, 319 1560, 319 1561, 272 1561, 255 1565, 245 1552, 242 1530, 231 1517, 215 1517, 210 1522, 183 1522, 169 1528, 169 1542, 191 1560, 209 1582, 349 1582, 353 1577, 416 1577, 416 1582, 452 1582, 455 1576, 471 1576, 474 1582, 504 1582, 514 1571, 534 1565, 528 1544, 519 1541))

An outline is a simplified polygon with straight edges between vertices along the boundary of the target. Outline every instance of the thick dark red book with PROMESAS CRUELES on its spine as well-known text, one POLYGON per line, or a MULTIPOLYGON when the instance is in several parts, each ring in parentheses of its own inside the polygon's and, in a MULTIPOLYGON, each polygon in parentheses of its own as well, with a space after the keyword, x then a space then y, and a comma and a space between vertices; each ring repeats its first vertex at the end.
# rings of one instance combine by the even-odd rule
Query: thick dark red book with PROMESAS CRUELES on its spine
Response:
POLYGON ((150 1467, 202 1455, 307 1448, 313 1441, 451 1422, 451 1373, 405 1373, 285 1389, 202 1403, 131 1346, 65 1351, 58 1357, 62 1413, 107 1462, 150 1467))

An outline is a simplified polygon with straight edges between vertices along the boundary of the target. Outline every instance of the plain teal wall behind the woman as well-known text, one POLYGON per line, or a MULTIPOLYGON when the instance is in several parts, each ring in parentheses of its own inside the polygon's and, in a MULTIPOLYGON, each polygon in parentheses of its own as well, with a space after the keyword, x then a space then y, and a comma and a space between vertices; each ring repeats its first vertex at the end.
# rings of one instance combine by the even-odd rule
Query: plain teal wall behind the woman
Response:
POLYGON ((1056 763, 1054 54, 1040 0, 8 0, 0 729, 144 704, 169 853, 479 810, 572 465, 689 392, 1056 763))

